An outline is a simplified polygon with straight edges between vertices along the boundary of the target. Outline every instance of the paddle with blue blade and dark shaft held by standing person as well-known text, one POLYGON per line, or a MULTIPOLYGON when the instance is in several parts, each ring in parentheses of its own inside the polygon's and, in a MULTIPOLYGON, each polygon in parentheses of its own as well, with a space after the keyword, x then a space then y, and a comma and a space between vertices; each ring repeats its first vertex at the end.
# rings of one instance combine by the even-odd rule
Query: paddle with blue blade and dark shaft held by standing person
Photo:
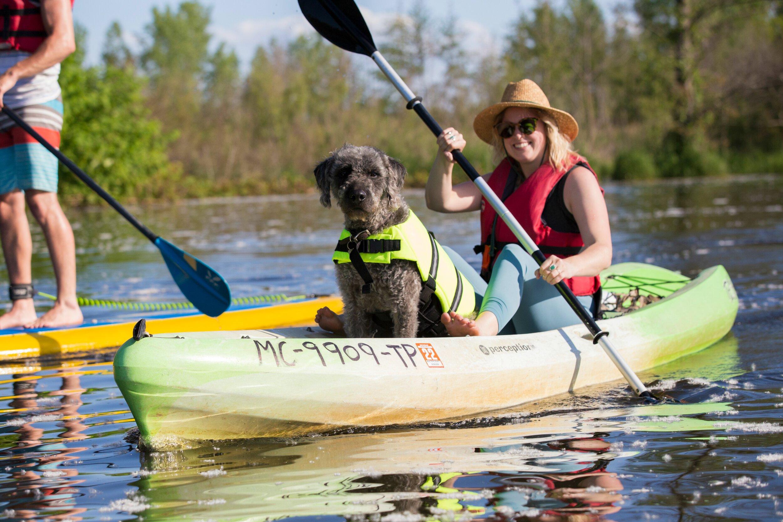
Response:
POLYGON ((47 142, 34 130, 34 128, 25 123, 13 109, 4 106, 2 112, 11 118, 14 123, 19 125, 23 131, 38 140, 42 146, 45 146, 46 149, 54 154, 63 165, 68 167, 77 178, 81 179, 82 182, 85 182, 85 185, 94 190, 103 200, 106 200, 106 203, 109 203, 115 211, 119 212, 123 218, 127 219, 131 225, 135 226, 139 232, 143 233, 147 239, 150 239, 150 241, 153 242, 157 249, 161 251, 163 260, 166 261, 166 266, 168 267, 168 271, 171 272, 171 277, 174 278, 174 282, 177 283, 179 290, 182 290, 182 294, 187 300, 193 303, 193 306, 210 317, 217 317, 229 308, 229 304, 231 304, 231 290, 229 290, 229 285, 226 283, 226 280, 223 279, 218 272, 215 272, 215 270, 210 268, 210 266, 203 261, 199 261, 196 257, 175 247, 175 245, 169 243, 166 239, 157 236, 157 234, 153 233, 150 229, 147 229, 146 226, 142 225, 142 223, 128 212, 125 207, 103 190, 95 180, 86 175, 81 168, 77 167, 77 165, 68 159, 65 154, 61 153, 59 149, 56 149, 51 143, 47 142))

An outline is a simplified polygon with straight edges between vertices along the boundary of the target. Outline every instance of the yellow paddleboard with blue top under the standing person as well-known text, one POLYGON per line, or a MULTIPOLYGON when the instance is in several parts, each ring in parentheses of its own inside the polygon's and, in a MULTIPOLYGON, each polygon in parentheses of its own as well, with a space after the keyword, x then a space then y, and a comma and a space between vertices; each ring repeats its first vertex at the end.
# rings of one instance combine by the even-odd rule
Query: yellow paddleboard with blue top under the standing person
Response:
POLYGON ((301 297, 283 302, 233 304, 214 318, 195 309, 158 314, 142 311, 120 320, 85 322, 65 328, 0 329, 0 361, 116 347, 128 339, 133 325, 142 317, 146 318, 147 327, 157 333, 275 328, 312 324, 316 310, 323 306, 341 310, 342 301, 335 296, 301 297))

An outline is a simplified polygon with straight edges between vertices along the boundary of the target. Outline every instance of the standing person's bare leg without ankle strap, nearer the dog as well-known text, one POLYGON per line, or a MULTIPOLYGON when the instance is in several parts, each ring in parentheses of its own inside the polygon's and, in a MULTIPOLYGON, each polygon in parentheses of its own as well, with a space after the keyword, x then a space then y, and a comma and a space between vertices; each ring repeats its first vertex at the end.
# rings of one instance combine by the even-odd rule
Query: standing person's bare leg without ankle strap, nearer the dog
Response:
POLYGON ((70 228, 57 194, 41 190, 26 191, 27 205, 33 217, 41 225, 52 258, 57 281, 57 301, 51 310, 31 323, 27 328, 45 328, 78 324, 82 321, 76 301, 76 247, 74 231, 70 228))

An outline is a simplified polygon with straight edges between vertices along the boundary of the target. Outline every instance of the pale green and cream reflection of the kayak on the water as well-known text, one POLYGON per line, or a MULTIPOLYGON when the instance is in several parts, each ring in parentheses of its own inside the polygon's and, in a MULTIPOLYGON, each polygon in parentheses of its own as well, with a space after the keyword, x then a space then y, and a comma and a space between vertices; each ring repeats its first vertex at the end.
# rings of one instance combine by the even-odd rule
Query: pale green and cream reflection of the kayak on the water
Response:
POLYGON ((723 403, 660 405, 518 416, 488 427, 226 443, 143 454, 135 485, 150 505, 145 520, 393 511, 601 520, 621 507, 615 463, 637 454, 613 445, 611 434, 715 429, 700 417, 730 410, 723 403))

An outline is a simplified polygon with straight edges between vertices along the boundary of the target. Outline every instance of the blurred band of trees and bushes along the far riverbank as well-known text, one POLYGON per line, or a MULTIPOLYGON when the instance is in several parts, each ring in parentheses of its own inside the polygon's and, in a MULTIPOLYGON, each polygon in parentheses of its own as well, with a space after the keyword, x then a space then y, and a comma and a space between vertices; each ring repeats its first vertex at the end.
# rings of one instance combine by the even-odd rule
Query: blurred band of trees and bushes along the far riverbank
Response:
MULTIPOLYGON (((421 4, 377 41, 467 157, 492 168, 475 113, 532 78, 580 124, 602 178, 783 172, 783 2, 540 0, 508 16, 497 49, 421 4)), ((153 9, 140 49, 115 23, 103 60, 63 64, 63 150, 124 198, 242 195, 312 187, 343 142, 398 157, 423 185, 435 140, 372 63, 314 32, 259 47, 249 65, 209 33, 198 2, 153 9), (246 70, 246 72, 245 72, 246 70)), ((87 38, 81 35, 82 44, 87 38)), ((63 173, 63 193, 88 193, 63 173)))

